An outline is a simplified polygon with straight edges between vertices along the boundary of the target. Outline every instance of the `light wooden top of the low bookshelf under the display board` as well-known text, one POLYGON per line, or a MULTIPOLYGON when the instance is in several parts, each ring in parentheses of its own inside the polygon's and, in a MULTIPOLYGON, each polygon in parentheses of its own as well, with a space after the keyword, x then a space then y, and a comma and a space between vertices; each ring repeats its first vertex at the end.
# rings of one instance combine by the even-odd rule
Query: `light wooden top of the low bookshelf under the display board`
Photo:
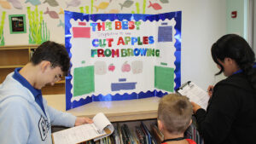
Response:
POLYGON ((94 101, 66 111, 66 95, 43 95, 50 107, 75 116, 93 118, 103 112, 111 122, 125 122, 157 118, 160 98, 150 97, 129 101, 94 101))

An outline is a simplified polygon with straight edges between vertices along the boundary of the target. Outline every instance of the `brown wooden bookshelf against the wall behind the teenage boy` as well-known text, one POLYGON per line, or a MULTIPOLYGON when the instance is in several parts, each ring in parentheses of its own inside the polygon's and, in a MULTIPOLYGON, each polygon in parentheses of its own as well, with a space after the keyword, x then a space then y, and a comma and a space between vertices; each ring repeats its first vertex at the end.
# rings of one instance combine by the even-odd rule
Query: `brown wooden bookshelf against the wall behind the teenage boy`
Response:
MULTIPOLYGON (((23 67, 32 57, 38 45, 14 45, 0 47, 0 84, 15 68, 23 67)), ((43 95, 65 94, 65 78, 54 86, 47 85, 42 89, 43 95)))

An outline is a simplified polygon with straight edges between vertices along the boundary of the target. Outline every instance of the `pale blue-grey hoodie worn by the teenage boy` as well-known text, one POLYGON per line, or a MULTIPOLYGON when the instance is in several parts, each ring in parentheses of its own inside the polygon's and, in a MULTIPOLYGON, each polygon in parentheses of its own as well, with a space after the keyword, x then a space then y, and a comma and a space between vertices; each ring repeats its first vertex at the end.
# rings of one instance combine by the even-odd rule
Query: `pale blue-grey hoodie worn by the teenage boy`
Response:
POLYGON ((0 143, 51 144, 51 125, 72 127, 76 117, 47 105, 38 106, 34 96, 10 73, 0 84, 0 143))

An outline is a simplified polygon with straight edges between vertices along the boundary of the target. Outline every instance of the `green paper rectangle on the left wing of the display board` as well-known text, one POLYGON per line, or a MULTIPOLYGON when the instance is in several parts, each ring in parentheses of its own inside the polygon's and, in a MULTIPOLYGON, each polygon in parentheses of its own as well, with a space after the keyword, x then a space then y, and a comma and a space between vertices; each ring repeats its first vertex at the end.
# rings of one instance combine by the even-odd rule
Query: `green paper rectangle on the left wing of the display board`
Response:
POLYGON ((90 94, 95 91, 94 66, 78 67, 73 73, 73 96, 90 94))

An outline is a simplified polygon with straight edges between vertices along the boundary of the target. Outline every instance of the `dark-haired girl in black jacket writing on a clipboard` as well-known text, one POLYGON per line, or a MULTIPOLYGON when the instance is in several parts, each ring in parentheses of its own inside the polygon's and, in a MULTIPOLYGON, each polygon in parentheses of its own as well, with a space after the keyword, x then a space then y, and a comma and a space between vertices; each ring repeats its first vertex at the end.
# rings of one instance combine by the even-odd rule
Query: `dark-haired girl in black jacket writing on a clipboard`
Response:
POLYGON ((213 88, 207 111, 193 112, 206 144, 256 143, 256 66, 247 41, 228 34, 212 44, 212 59, 227 78, 213 88))

